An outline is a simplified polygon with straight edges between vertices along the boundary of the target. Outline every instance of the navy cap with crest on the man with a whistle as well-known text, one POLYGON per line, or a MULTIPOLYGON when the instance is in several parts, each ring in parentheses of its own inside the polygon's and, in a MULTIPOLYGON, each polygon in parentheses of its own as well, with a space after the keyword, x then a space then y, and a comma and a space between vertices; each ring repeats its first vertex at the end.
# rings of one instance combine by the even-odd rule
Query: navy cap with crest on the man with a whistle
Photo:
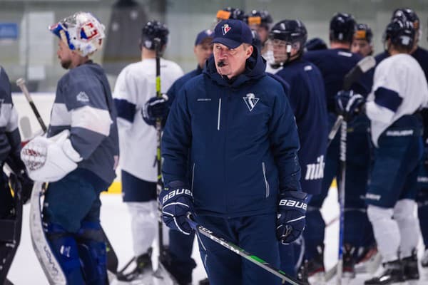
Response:
POLYGON ((213 43, 221 43, 228 48, 238 48, 242 43, 253 43, 253 34, 250 27, 243 21, 223 20, 215 26, 213 43))

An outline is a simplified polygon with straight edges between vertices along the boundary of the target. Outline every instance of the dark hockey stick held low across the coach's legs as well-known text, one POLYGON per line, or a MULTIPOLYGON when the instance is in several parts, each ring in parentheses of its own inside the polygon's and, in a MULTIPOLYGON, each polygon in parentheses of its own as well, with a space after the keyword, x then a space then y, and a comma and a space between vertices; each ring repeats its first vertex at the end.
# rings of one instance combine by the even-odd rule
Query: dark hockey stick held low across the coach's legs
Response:
POLYGON ((195 229, 196 232, 203 234, 205 237, 208 237, 209 239, 213 240, 214 242, 217 242, 221 246, 225 247, 226 249, 229 249, 231 252, 235 252, 235 254, 240 255, 241 257, 247 259, 248 261, 253 262, 253 264, 262 267, 266 271, 269 271, 270 273, 274 274, 278 278, 282 280, 282 284, 292 284, 292 285, 307 285, 305 282, 297 281, 292 276, 289 276, 284 271, 275 268, 274 266, 268 264, 266 261, 261 259, 260 257, 256 257, 254 254, 250 254, 249 252, 246 252, 245 249, 242 249, 238 247, 238 245, 233 244, 232 242, 228 242, 227 240, 223 239, 222 237, 218 237, 218 235, 214 234, 210 229, 207 229, 197 222, 195 222, 191 214, 188 213, 187 221, 190 224, 190 227, 192 229, 195 229))

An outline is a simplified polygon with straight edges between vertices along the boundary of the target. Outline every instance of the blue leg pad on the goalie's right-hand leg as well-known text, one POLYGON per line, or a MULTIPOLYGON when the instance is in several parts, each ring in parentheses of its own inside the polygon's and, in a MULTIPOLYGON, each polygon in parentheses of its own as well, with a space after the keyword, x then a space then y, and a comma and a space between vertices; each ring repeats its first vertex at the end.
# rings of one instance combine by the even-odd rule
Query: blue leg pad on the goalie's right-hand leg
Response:
POLYGON ((83 222, 78 232, 78 254, 86 284, 104 285, 107 280, 106 243, 99 222, 83 222))

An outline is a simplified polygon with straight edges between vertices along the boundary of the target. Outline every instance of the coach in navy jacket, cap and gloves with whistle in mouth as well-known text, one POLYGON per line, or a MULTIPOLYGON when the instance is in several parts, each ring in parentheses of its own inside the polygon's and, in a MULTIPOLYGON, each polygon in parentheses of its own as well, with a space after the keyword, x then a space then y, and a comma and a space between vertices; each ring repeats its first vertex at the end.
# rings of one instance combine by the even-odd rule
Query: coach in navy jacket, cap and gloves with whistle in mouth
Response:
MULTIPOLYGON (((307 195, 292 110, 252 41, 243 21, 215 27, 213 57, 180 89, 165 125, 159 199, 168 227, 190 234, 193 212, 196 222, 278 266, 277 239, 300 236, 307 195)), ((280 284, 207 237, 198 242, 210 284, 280 284)))

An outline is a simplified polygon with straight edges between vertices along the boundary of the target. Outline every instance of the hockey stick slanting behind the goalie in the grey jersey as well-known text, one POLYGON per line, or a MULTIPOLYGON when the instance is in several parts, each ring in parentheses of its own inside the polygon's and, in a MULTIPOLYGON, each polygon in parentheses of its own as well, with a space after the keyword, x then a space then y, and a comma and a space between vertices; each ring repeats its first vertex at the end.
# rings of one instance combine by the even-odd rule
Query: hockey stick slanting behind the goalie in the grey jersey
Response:
MULTIPOLYGON (((22 93, 24 93, 26 100, 28 100, 30 106, 31 106, 31 110, 33 110, 34 115, 36 115, 37 120, 39 121, 39 124, 41 126, 41 129, 43 130, 44 133, 46 133, 48 131, 48 128, 46 128, 46 125, 44 123, 43 118, 41 118, 41 115, 39 113, 39 110, 37 110, 36 105, 34 105, 34 101, 31 98, 31 95, 29 93, 29 90, 26 88, 25 85, 25 80, 24 78, 19 78, 16 81, 16 85, 19 86, 19 88, 21 88, 22 93)), ((44 193, 42 192, 41 195, 44 195, 44 193)), ((31 198, 33 196, 31 195, 31 198)), ((31 201, 32 203, 32 201, 31 201)), ((31 209, 36 210, 36 208, 31 207, 31 209)), ((39 214, 41 214, 41 212, 39 212, 39 214)), ((108 237, 106 235, 106 232, 104 232, 103 227, 101 227, 101 232, 103 234, 103 239, 104 242, 106 242, 106 253, 107 253, 107 269, 108 271, 111 271, 113 274, 116 274, 116 272, 118 271, 118 257, 116 255, 116 252, 114 252, 113 247, 111 246, 110 241, 108 240, 108 237)), ((46 239, 46 238, 45 238, 46 239)), ((42 265, 43 266, 43 265, 42 265)), ((46 272, 46 271, 45 271, 46 272)))

